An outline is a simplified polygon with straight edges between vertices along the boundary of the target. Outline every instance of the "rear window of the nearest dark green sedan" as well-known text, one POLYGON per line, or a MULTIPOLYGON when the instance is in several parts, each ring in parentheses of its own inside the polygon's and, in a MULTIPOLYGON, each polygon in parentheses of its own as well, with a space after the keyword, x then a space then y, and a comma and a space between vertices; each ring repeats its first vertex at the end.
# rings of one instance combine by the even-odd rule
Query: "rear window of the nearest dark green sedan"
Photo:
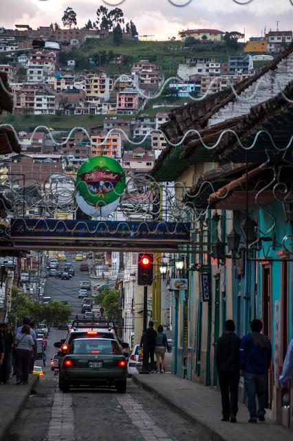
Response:
POLYGON ((115 340, 75 340, 69 353, 121 355, 122 352, 115 340))

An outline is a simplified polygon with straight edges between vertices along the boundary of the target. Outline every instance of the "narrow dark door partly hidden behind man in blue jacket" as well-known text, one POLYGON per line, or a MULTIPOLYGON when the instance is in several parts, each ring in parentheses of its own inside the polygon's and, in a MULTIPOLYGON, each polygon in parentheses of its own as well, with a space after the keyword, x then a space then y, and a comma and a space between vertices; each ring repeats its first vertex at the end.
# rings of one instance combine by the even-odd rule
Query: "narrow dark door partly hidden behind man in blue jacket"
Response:
MULTIPOLYGON (((263 289, 261 296, 261 318, 263 334, 272 341, 272 266, 263 265, 263 289)), ((271 365, 272 366, 272 365, 271 365)), ((272 367, 268 376, 268 387, 265 393, 265 407, 272 409, 272 367)))

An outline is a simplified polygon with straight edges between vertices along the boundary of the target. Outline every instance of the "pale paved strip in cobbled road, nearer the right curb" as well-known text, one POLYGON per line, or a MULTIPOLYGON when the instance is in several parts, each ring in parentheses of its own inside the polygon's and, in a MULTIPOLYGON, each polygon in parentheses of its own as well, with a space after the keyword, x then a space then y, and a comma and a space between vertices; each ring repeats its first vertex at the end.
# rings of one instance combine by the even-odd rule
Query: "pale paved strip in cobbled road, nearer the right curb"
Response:
POLYGON ((145 441, 173 441, 144 411, 142 404, 133 400, 129 393, 124 396, 116 395, 116 400, 127 413, 133 425, 138 428, 145 441))

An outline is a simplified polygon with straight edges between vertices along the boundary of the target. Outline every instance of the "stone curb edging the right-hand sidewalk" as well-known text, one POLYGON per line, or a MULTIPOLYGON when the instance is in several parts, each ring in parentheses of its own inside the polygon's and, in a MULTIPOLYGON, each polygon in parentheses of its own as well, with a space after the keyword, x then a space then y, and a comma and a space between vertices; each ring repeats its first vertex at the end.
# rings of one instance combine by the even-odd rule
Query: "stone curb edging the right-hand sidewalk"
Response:
POLYGON ((228 438, 223 438, 215 428, 210 427, 207 423, 203 422, 199 418, 197 418, 195 415, 188 413, 184 411, 175 401, 166 398, 160 391, 157 391, 153 389, 149 384, 145 384, 140 380, 140 375, 134 374, 132 376, 132 381, 135 382, 135 384, 138 384, 142 389, 152 393, 156 398, 158 398, 160 401, 164 402, 170 409, 176 411, 182 418, 185 420, 188 420, 189 422, 195 424, 197 427, 200 427, 203 431, 205 431, 206 435, 210 437, 211 441, 230 441, 228 438))

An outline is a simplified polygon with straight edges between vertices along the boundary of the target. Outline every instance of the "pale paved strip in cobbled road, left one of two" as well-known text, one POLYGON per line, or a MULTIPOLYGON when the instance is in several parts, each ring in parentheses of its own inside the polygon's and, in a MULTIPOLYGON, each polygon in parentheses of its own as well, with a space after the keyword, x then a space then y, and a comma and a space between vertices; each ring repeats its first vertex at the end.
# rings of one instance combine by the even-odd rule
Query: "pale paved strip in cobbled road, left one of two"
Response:
POLYGON ((74 441, 74 411, 72 396, 56 386, 47 441, 74 441))

